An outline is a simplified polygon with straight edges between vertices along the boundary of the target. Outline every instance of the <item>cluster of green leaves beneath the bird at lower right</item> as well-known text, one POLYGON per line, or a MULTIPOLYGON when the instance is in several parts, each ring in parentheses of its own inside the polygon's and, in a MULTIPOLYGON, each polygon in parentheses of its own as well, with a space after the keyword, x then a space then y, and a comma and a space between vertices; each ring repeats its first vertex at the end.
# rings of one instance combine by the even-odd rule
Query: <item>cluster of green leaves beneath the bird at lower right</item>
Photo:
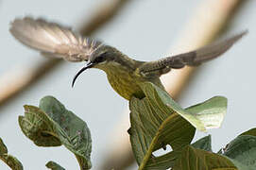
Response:
POLYGON ((168 93, 154 84, 142 84, 142 89, 145 98, 132 98, 129 107, 130 142, 139 169, 246 170, 254 167, 256 143, 251 134, 256 134, 255 131, 237 137, 222 154, 212 152, 210 136, 190 144, 195 127, 202 131, 220 127, 227 110, 225 97, 215 96, 183 110, 168 93), (166 144, 173 150, 154 156, 153 152, 165 148, 166 144), (239 149, 235 148, 237 146, 239 149))

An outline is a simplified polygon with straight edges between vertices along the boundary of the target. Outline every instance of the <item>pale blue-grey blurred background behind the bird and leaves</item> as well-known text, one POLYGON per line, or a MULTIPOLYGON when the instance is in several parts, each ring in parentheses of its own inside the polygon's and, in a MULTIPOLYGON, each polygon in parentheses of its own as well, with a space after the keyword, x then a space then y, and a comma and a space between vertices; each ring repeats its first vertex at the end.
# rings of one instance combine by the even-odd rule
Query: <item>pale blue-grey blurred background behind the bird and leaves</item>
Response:
MULTIPOLYGON (((206 0, 162 0, 161 2, 154 0, 125 2, 123 0, 120 7, 115 7, 114 10, 118 8, 118 12, 113 14, 111 19, 103 17, 103 20, 108 23, 98 26, 99 29, 94 31, 92 36, 115 46, 133 59, 160 59, 174 54, 172 51, 181 51, 182 42, 184 45, 188 45, 186 37, 201 38, 206 34, 203 29, 213 28, 211 25, 210 27, 208 25, 201 26, 202 23, 199 22, 197 27, 195 25, 191 27, 190 35, 190 25, 187 23, 190 23, 192 19, 206 17, 206 21, 214 23, 215 18, 211 14, 211 10, 224 8, 225 13, 226 6, 236 1, 223 0, 222 2, 221 7, 210 7, 205 10, 198 7, 202 8, 202 3, 207 4, 206 0), (205 12, 196 16, 197 10, 205 12), (180 50, 177 50, 178 48, 180 50)), ((182 93, 175 96, 184 108, 207 100, 214 95, 224 95, 228 98, 228 112, 222 127, 210 130, 208 133, 196 132, 195 140, 212 134, 213 151, 217 151, 236 135, 256 125, 255 110, 253 109, 256 93, 256 79, 254 78, 256 72, 256 52, 254 51, 256 1, 245 0, 245 2, 239 11, 235 10, 237 13, 231 19, 231 23, 223 26, 228 29, 221 28, 220 31, 213 32, 216 35, 221 34, 227 37, 248 29, 247 36, 237 42, 221 58, 196 68, 196 72, 189 75, 189 81, 184 81, 185 83, 182 84, 182 87, 187 85, 182 89, 182 93)), ((45 95, 57 97, 68 110, 74 111, 90 127, 93 138, 93 169, 103 169, 102 164, 107 158, 115 157, 114 152, 116 151, 113 150, 114 147, 118 147, 117 145, 113 146, 112 138, 117 141, 115 144, 126 143, 123 140, 128 141, 126 137, 128 129, 126 122, 128 121, 124 121, 128 120, 128 101, 113 92, 107 76, 96 69, 79 76, 75 88, 71 88, 73 76, 84 63, 67 61, 52 66, 54 69, 43 67, 41 72, 46 73, 50 70, 49 74, 34 81, 23 93, 18 95, 7 93, 9 89, 11 91, 13 87, 17 88, 19 83, 21 87, 25 86, 26 83, 23 84, 23 80, 31 78, 37 67, 47 63, 45 61, 47 59, 41 57, 37 51, 30 50, 14 40, 9 33, 9 23, 16 17, 31 15, 81 30, 82 27, 92 22, 92 17, 97 12, 103 12, 103 16, 107 16, 104 14, 104 8, 111 10, 111 4, 115 3, 118 1, 0 1, 0 137, 7 144, 9 153, 22 161, 25 169, 46 169, 44 164, 47 161, 56 161, 66 169, 77 169, 78 164, 73 154, 64 147, 38 147, 26 138, 18 125, 18 115, 24 114, 23 105, 38 106, 39 100, 45 95), (13 97, 10 98, 9 96, 12 95, 13 97)), ((215 13, 215 15, 218 14, 215 13)), ((89 34, 89 32, 88 28, 85 33, 89 34)), ((213 35, 213 38, 216 35, 213 35)), ((191 39, 189 41, 193 45, 191 39)), ((205 42, 210 42, 210 39, 205 42)), ((165 84, 168 84, 167 81, 171 82, 172 79, 164 79, 165 84)), ((126 150, 125 147, 126 145, 121 146, 126 150)), ((115 159, 118 161, 118 158, 115 159)), ((136 169, 136 167, 137 165, 133 163, 128 169, 136 169)), ((112 166, 109 165, 105 169, 111 168, 112 166)), ((0 169, 5 170, 9 167, 0 161, 0 169)))

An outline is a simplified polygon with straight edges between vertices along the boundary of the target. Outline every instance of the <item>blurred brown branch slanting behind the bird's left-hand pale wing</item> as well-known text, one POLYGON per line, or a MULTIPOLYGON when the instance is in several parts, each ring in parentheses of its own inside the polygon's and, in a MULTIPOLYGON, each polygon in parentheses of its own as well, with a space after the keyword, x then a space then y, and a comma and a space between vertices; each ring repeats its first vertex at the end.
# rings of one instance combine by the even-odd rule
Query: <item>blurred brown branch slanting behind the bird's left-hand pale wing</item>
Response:
MULTIPOLYGON (((80 32, 82 35, 92 35, 99 28, 110 22, 114 16, 128 3, 128 0, 109 0, 101 4, 95 10, 92 19, 81 26, 80 32)), ((36 64, 36 67, 27 67, 9 71, 7 74, 0 77, 0 107, 4 106, 11 99, 15 98, 19 93, 22 93, 27 88, 43 76, 51 73, 63 61, 60 59, 46 59, 45 61, 36 64)))

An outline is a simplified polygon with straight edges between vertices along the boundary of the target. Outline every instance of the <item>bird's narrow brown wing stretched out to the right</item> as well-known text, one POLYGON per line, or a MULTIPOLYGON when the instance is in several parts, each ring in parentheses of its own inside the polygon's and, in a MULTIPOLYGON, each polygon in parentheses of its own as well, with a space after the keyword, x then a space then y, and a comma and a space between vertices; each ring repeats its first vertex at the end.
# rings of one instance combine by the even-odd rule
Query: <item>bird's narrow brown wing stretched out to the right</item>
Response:
POLYGON ((221 42, 213 42, 207 46, 199 48, 195 51, 188 53, 179 54, 173 57, 159 59, 156 61, 145 62, 140 66, 139 72, 145 76, 161 76, 162 74, 168 73, 172 68, 179 69, 185 65, 196 66, 204 61, 214 59, 223 53, 225 53, 234 42, 241 39, 247 31, 241 32, 229 39, 221 42))

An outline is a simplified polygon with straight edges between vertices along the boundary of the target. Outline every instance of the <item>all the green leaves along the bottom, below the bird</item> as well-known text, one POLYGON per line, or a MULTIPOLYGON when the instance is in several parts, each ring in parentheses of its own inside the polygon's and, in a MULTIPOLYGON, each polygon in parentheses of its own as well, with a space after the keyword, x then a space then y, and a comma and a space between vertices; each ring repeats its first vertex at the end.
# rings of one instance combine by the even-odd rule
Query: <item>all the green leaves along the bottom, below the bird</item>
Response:
MULTIPOLYGON (((128 129, 133 154, 139 169, 163 170, 253 170, 256 169, 256 128, 247 130, 213 153, 211 136, 191 144, 196 129, 206 131, 220 127, 227 110, 227 99, 215 96, 187 109, 182 109, 168 93, 152 83, 141 84, 144 98, 129 101, 128 129), (172 150, 161 156, 154 152, 172 150)), ((92 139, 86 123, 53 96, 45 96, 39 107, 26 105, 25 115, 19 116, 19 125, 34 144, 60 146, 72 151, 80 169, 90 169, 92 139)), ((0 139, 0 159, 10 168, 22 170, 23 165, 8 154, 0 139)), ((60 164, 48 161, 46 167, 64 170, 60 164)))

